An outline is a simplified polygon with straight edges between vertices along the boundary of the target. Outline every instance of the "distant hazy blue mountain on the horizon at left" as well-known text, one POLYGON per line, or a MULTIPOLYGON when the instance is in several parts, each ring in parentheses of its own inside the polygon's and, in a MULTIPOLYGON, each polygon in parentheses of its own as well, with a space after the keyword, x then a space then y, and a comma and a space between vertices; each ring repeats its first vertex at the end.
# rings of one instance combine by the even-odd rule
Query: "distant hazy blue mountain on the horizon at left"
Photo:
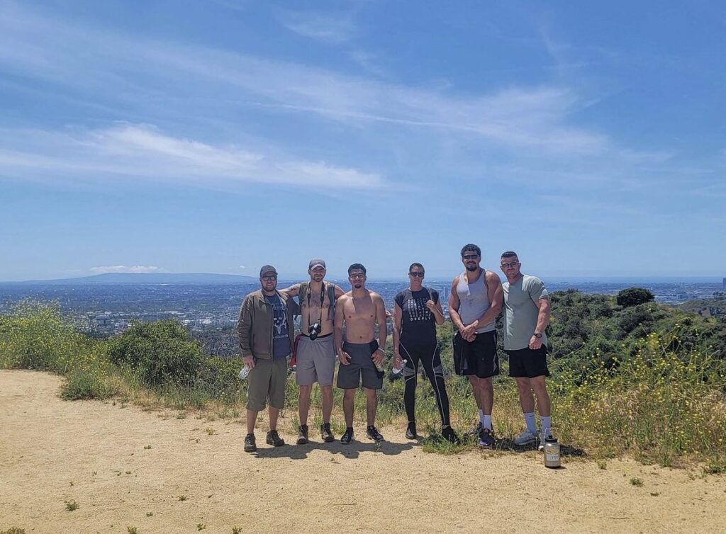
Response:
POLYGON ((100 285, 100 284, 175 284, 175 285, 213 285, 213 284, 249 284, 257 282, 253 276, 239 274, 210 273, 106 273, 81 278, 64 278, 57 280, 28 280, 26 282, 3 282, 12 285, 100 285))

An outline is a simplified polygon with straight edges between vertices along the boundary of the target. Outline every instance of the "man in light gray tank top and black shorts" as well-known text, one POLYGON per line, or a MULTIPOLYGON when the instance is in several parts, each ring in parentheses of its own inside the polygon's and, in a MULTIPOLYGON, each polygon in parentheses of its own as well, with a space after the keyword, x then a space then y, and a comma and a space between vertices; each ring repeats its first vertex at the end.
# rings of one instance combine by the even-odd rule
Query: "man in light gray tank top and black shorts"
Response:
POLYGON ((461 261, 465 271, 454 278, 449 297, 449 317, 458 330, 454 370, 469 377, 479 408, 479 445, 492 448, 492 377, 499 374, 495 321, 502 312, 502 282, 497 274, 479 266, 481 249, 476 245, 464 245, 461 261))

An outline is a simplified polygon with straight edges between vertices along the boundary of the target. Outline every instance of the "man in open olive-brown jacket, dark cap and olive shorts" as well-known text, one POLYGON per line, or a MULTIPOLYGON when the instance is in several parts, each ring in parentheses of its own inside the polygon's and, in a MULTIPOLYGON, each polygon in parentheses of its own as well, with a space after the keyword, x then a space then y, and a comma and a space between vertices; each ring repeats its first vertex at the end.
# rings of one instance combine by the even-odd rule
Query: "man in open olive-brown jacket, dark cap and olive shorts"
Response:
POLYGON ((287 356, 293 349, 295 302, 277 291, 277 271, 271 265, 260 269, 261 289, 242 301, 237 334, 240 353, 251 369, 247 390, 247 436, 245 452, 257 450, 255 421, 269 399, 270 430, 266 443, 279 447, 285 441, 277 433, 277 417, 285 406, 287 356))

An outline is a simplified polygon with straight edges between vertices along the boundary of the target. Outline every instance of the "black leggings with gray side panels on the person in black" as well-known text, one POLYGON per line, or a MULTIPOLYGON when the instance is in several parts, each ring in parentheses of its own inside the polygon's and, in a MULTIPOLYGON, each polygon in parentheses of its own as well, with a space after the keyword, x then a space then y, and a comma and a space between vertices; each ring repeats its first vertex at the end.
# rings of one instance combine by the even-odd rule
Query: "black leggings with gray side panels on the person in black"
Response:
POLYGON ((418 364, 421 363, 424 371, 426 371, 429 382, 431 382, 433 395, 436 396, 436 406, 439 407, 441 426, 448 427, 451 424, 451 419, 449 419, 449 395, 446 395, 446 384, 444 384, 444 370, 441 369, 439 346, 433 344, 404 347, 403 343, 400 343, 399 353, 401 354, 401 358, 406 360, 406 366, 404 367, 404 380, 406 381, 406 387, 404 388, 404 406, 406 407, 408 420, 416 420, 416 382, 418 378, 418 364))

